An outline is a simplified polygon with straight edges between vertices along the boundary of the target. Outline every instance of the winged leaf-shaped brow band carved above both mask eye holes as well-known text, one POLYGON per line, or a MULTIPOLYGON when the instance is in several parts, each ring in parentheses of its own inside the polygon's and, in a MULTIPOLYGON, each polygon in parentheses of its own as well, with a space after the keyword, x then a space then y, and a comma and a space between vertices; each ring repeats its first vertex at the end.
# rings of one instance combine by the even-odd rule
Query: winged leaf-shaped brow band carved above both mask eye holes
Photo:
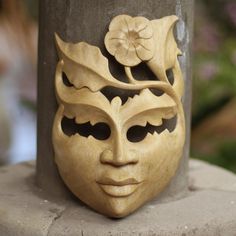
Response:
POLYGON ((67 87, 62 80, 62 63, 58 63, 56 69, 55 87, 57 99, 65 107, 65 115, 68 118, 76 117, 77 123, 90 121, 108 122, 120 117, 120 122, 132 118, 132 121, 146 122, 153 125, 159 124, 162 118, 168 118, 174 114, 176 103, 167 94, 161 97, 153 95, 149 89, 144 89, 140 95, 136 95, 122 106, 119 97, 115 97, 111 103, 101 92, 91 92, 88 88, 76 89, 67 87), (150 114, 149 114, 150 113, 150 114), (143 116, 143 117, 142 117, 143 116))

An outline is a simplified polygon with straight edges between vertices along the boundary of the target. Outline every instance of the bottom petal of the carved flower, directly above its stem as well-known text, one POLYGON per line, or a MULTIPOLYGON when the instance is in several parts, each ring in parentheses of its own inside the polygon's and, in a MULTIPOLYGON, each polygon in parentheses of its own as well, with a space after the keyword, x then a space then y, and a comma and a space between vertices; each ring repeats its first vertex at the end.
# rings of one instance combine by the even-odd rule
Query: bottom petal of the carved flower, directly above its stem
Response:
POLYGON ((120 46, 115 53, 116 60, 124 66, 136 66, 141 60, 137 57, 134 46, 129 48, 120 46))

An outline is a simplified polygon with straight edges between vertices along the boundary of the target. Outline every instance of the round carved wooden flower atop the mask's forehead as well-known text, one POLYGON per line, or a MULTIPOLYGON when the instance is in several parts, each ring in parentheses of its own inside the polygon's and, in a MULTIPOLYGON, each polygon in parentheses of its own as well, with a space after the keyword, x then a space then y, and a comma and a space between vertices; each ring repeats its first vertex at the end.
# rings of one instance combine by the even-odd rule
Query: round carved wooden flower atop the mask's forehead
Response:
POLYGON ((116 60, 125 66, 136 66, 154 55, 153 29, 144 17, 115 17, 105 37, 105 46, 116 60))

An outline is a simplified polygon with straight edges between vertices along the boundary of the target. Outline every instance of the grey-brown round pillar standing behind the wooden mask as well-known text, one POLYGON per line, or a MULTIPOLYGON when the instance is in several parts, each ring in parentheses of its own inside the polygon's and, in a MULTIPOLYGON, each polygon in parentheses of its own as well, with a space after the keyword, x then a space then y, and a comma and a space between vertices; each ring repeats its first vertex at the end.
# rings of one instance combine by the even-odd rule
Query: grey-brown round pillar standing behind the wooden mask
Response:
MULTIPOLYGON (((52 147, 52 124, 57 109, 54 74, 58 61, 54 33, 57 32, 67 42, 86 41, 98 46, 109 57, 103 43, 104 36, 111 19, 120 14, 140 15, 150 20, 174 14, 180 19, 176 26, 176 38, 183 52, 180 62, 185 80, 183 102, 187 135, 179 170, 161 197, 180 197, 187 190, 193 0, 40 0, 37 184, 56 196, 66 196, 68 190, 57 172, 52 147)), ((111 72, 122 78, 114 61, 111 72)))

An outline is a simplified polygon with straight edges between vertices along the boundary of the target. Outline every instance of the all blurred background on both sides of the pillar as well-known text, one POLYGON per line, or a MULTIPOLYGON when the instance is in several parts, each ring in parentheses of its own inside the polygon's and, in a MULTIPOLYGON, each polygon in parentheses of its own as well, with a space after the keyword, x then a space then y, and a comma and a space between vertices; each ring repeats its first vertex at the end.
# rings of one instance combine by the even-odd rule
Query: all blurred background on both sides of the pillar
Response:
MULTIPOLYGON (((191 156, 236 173, 236 1, 195 6, 191 156)), ((0 165, 35 158, 37 0, 0 0, 0 165)))

